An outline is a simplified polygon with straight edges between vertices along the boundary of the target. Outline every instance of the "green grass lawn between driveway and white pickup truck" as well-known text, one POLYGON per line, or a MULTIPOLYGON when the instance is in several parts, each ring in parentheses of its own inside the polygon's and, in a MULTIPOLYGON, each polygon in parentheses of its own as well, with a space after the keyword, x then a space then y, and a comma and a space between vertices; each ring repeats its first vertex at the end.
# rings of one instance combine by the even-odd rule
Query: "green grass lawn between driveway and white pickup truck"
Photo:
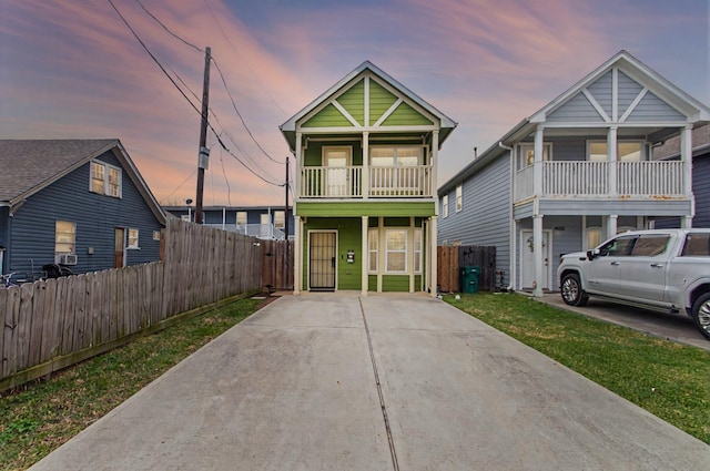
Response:
POLYGON ((710 351, 523 295, 444 300, 710 444, 710 351))

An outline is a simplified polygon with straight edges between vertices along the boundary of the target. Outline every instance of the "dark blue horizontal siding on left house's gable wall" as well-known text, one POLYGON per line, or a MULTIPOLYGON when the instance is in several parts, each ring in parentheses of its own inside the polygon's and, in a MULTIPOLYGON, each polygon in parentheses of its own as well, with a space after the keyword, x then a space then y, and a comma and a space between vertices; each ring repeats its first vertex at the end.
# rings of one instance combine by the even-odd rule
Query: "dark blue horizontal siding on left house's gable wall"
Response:
MULTIPOLYGON (((102 162, 121 166, 112 153, 102 162)), ((160 258, 160 240, 153 231, 163 226, 128 176, 122 172, 122 197, 99 195, 89 191, 90 164, 87 163, 52 185, 30 196, 12 217, 9 272, 30 274, 42 265, 54 263, 57 221, 77 225, 74 273, 97 272, 113 267, 115 227, 138 228, 140 249, 125 250, 125 264, 138 265, 160 258), (89 247, 93 254, 89 255, 89 247)))

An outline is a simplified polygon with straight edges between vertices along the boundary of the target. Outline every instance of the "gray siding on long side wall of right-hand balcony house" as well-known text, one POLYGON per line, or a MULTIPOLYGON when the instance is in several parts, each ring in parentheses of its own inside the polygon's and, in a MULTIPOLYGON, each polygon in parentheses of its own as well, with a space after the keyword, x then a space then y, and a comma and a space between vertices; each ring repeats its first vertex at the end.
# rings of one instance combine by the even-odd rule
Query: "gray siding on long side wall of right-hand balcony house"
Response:
POLYGON ((463 209, 456 190, 448 195, 448 217, 438 219, 438 240, 452 245, 496 246, 496 269, 510 273, 510 163, 506 154, 463 184, 463 209))

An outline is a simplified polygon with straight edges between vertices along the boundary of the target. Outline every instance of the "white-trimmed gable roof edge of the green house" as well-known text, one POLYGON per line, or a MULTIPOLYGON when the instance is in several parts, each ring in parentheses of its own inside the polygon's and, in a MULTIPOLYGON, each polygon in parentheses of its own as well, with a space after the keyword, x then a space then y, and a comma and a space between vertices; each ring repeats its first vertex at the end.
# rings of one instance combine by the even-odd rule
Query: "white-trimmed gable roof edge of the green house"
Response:
POLYGON ((359 75, 362 75, 366 71, 372 72, 383 81, 389 83, 389 85, 394 86, 402 94, 406 95, 408 100, 412 100, 412 102, 414 102, 422 109, 426 110, 428 113, 430 113, 432 115, 436 116, 439 120, 439 123, 440 123, 439 146, 446 140, 448 134, 452 131, 454 131, 454 129, 456 127, 457 123, 454 120, 452 120, 450 117, 448 117, 447 115, 438 111, 436 107, 432 106, 429 103, 424 101, 420 96, 418 96, 412 90, 407 89, 405 85, 396 81, 394 78, 388 75, 386 72, 384 72, 382 69, 379 69, 372 62, 365 61, 362 64, 359 64, 359 66, 357 66, 355 70, 353 70, 351 73, 345 75, 335 85, 326 90, 323 94, 321 94, 321 96, 315 99, 307 106, 305 106, 294 116, 292 116, 288 121, 286 121, 284 124, 278 126, 282 133, 284 134, 284 136, 286 137, 286 141, 288 142, 288 145, 291 146, 292 150, 295 149, 296 123, 300 120, 302 120, 304 116, 306 116, 308 113, 311 113, 313 110, 315 110, 318 105, 321 105, 321 103, 326 101, 329 96, 336 94, 343 88, 352 83, 354 79, 357 79, 359 75))

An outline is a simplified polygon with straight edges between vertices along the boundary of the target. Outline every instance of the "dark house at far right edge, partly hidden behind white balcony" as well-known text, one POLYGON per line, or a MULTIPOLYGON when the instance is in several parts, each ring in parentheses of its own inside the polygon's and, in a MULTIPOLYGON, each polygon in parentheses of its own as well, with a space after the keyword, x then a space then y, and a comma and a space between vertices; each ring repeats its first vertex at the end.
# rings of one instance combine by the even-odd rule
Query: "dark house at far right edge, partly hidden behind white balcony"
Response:
MULTIPOLYGON (((680 158, 680 139, 673 137, 653 149, 653 158, 680 158)), ((696 214, 692 218, 693 227, 710 227, 710 125, 692 130, 692 194, 696 197, 696 214)), ((678 217, 660 218, 653 222, 653 227, 680 227, 678 217)))

